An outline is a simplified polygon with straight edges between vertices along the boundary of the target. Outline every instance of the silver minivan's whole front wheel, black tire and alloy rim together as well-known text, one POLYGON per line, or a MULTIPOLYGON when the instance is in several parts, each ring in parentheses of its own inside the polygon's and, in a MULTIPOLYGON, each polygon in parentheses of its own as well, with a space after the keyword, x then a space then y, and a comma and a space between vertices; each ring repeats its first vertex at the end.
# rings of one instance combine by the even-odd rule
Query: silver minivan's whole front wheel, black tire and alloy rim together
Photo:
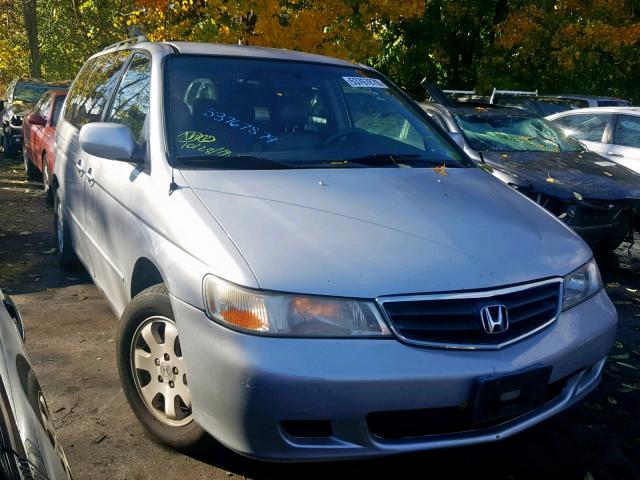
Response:
POLYGON ((193 420, 175 325, 164 284, 136 295, 120 322, 118 372, 127 401, 144 428, 175 450, 193 452, 209 446, 211 437, 193 420))

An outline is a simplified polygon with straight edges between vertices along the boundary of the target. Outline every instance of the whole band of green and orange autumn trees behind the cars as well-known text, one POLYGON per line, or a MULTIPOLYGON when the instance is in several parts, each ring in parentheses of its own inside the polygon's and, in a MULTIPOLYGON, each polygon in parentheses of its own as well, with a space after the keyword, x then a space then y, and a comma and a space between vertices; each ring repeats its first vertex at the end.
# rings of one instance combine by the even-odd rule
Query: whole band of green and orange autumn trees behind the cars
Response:
MULTIPOLYGON (((34 0, 42 71, 73 78, 131 34, 240 43, 371 64, 407 91, 420 80, 617 95, 640 102, 638 0, 34 0)), ((21 0, 0 0, 0 92, 28 73, 21 0)))

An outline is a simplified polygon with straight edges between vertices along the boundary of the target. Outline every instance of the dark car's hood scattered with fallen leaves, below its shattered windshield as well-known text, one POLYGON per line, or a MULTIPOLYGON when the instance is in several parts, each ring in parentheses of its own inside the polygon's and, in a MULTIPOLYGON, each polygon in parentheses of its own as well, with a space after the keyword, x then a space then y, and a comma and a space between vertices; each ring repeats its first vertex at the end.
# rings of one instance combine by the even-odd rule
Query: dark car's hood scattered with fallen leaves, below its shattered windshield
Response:
POLYGON ((487 165, 517 185, 575 200, 639 200, 640 175, 594 152, 482 152, 487 165))

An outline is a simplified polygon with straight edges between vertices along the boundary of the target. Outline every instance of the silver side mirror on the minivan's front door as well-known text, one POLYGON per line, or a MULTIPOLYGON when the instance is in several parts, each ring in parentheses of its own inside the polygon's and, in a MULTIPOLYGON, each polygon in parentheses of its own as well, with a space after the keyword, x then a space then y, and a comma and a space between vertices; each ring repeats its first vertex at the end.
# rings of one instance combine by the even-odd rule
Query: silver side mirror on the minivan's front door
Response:
POLYGON ((80 129, 80 147, 89 155, 123 162, 139 162, 139 148, 131 129, 120 123, 88 123, 80 129))

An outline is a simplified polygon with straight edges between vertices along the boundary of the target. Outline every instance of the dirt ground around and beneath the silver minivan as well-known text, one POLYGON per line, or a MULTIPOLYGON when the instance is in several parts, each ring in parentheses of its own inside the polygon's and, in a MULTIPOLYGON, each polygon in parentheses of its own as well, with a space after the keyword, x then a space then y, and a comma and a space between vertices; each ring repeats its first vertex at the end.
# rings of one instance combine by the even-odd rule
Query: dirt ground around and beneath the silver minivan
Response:
POLYGON ((640 248, 628 247, 599 259, 620 314, 602 384, 527 432, 366 462, 267 464, 222 447, 188 457, 155 443, 135 420, 116 370, 118 319, 84 271, 58 267, 41 186, 24 180, 20 161, 0 157, 0 287, 23 314, 27 350, 76 479, 640 478, 640 248))

